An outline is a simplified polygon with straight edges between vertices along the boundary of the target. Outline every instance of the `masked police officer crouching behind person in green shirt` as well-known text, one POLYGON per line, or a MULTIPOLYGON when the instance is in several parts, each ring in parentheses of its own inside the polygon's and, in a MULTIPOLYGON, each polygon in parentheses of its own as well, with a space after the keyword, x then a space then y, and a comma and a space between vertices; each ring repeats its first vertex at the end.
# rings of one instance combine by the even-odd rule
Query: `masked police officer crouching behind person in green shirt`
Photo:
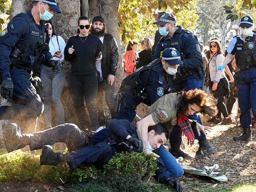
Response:
POLYGON ((115 103, 115 118, 133 121, 140 103, 152 105, 171 90, 171 80, 180 65, 180 53, 167 48, 161 58, 137 69, 121 84, 115 103))

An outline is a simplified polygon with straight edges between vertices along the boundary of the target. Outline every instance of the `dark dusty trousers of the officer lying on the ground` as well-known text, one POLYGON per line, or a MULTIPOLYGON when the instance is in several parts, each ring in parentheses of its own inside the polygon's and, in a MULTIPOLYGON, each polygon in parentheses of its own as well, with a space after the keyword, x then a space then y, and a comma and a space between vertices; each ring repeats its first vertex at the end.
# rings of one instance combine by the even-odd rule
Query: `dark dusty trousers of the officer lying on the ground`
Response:
POLYGON ((56 142, 67 144, 69 162, 72 169, 82 163, 93 163, 96 167, 106 164, 111 158, 111 146, 107 143, 90 145, 89 138, 75 124, 63 124, 34 134, 22 135, 30 150, 42 149, 56 142))

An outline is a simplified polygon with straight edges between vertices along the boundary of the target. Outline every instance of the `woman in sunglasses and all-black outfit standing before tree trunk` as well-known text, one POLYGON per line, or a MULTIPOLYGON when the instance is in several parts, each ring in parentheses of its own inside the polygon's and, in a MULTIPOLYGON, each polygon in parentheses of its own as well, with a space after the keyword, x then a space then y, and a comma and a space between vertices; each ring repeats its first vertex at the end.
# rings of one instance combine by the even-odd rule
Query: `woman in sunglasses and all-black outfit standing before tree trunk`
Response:
POLYGON ((88 33, 90 25, 87 17, 78 19, 77 28, 76 36, 70 37, 65 47, 65 59, 71 63, 69 90, 81 127, 96 130, 98 127, 96 107, 98 79, 95 61, 101 60, 102 56, 97 57, 101 55, 102 42, 96 35, 88 33), (90 123, 85 118, 83 98, 89 112, 90 123))

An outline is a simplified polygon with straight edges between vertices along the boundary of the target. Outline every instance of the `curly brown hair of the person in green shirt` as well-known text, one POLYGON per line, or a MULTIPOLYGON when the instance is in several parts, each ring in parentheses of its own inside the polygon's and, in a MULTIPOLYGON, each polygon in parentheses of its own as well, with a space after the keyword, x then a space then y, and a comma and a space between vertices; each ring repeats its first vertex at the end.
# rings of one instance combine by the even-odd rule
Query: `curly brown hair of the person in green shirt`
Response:
POLYGON ((178 92, 181 96, 179 109, 182 112, 186 112, 189 104, 196 104, 201 108, 200 113, 208 114, 213 117, 217 113, 216 103, 217 100, 213 97, 212 94, 206 93, 200 89, 193 89, 189 91, 178 92))

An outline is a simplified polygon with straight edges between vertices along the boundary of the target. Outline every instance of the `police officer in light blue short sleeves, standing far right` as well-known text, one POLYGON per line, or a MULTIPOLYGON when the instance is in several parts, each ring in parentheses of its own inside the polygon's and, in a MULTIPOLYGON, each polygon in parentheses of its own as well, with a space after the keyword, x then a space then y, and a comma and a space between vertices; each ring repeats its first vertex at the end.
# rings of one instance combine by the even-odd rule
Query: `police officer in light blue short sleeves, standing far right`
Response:
POLYGON ((240 123, 243 134, 233 137, 234 140, 251 141, 251 109, 256 117, 256 34, 252 33, 253 20, 250 16, 244 16, 239 24, 241 33, 230 42, 223 64, 218 70, 224 70, 235 55, 236 65, 239 68, 238 75, 238 103, 240 107, 240 123))

